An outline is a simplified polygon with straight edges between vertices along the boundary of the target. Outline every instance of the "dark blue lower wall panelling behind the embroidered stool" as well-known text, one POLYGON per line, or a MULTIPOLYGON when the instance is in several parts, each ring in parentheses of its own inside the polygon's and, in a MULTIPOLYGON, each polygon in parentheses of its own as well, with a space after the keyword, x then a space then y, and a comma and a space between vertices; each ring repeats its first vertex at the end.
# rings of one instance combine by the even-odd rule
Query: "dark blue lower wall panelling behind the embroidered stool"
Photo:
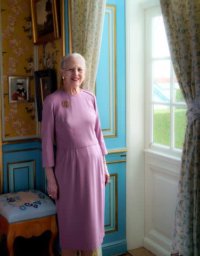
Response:
POLYGON ((40 141, 3 145, 3 186, 4 193, 28 188, 45 191, 40 141))

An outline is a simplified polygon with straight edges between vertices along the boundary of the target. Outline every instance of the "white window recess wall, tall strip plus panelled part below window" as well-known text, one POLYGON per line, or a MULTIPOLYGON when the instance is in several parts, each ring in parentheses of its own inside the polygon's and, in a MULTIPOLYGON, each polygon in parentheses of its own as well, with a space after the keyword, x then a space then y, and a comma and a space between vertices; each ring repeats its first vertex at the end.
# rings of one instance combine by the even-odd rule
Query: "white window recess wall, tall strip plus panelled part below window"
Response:
MULTIPOLYGON (((170 255, 180 157, 145 149, 145 9, 159 0, 126 0, 127 243, 170 255)), ((148 145, 146 145, 148 147, 148 145)))

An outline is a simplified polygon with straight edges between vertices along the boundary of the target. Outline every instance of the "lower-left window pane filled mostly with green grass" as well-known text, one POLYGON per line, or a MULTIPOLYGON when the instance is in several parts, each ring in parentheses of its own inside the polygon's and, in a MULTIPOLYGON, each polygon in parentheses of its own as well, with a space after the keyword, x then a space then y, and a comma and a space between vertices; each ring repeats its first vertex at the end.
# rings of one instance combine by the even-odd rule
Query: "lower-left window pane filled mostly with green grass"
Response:
POLYGON ((153 142, 170 146, 170 107, 154 105, 153 142))

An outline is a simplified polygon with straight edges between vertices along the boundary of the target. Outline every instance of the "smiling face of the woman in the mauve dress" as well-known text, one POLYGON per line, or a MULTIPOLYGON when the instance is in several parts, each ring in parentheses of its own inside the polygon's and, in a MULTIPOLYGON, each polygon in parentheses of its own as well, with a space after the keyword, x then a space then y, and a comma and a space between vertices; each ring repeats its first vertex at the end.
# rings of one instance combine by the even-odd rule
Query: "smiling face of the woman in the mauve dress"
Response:
POLYGON ((64 62, 64 67, 61 69, 61 75, 65 78, 65 84, 70 87, 79 87, 85 79, 85 62, 84 60, 71 57, 64 62))

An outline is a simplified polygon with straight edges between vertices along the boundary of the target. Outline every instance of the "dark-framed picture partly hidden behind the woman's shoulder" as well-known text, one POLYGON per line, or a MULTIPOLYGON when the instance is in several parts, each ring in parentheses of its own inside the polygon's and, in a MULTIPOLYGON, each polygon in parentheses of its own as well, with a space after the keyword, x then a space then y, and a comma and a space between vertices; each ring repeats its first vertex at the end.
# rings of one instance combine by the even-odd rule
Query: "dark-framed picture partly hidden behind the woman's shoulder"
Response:
POLYGON ((43 102, 48 94, 57 90, 56 74, 53 69, 34 72, 38 121, 41 122, 43 102))

